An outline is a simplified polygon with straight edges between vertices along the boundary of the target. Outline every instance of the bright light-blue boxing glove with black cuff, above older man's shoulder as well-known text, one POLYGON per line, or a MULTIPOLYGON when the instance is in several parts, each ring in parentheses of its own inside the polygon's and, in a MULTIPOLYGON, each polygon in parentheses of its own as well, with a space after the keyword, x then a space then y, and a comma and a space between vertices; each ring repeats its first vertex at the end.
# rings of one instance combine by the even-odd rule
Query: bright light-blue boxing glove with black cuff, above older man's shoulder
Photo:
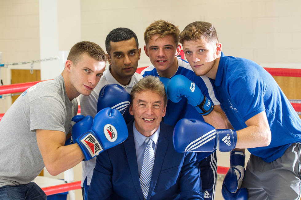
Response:
POLYGON ((175 103, 179 102, 182 96, 185 96, 188 104, 194 106, 201 115, 210 114, 214 107, 194 82, 180 74, 170 79, 167 86, 167 95, 175 103))

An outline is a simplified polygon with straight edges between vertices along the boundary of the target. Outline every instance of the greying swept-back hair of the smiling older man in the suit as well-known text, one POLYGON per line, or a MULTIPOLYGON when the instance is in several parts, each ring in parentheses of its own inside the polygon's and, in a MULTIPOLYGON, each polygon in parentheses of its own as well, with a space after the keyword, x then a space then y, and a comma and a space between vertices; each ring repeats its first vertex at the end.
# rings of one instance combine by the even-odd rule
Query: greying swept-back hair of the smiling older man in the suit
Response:
POLYGON ((166 107, 167 95, 165 92, 164 84, 160 81, 158 77, 154 76, 146 76, 140 79, 140 81, 138 81, 136 85, 134 85, 134 87, 131 90, 131 104, 133 103, 135 94, 145 90, 150 90, 154 93, 159 94, 163 98, 164 108, 166 107))

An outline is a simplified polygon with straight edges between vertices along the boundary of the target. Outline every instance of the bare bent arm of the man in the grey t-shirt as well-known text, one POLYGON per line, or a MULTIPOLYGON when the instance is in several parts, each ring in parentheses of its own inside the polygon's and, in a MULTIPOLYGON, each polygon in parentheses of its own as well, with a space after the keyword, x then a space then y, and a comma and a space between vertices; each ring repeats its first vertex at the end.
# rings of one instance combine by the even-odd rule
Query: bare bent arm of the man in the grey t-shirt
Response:
POLYGON ((65 144, 65 133, 56 130, 36 130, 37 142, 47 171, 58 175, 80 163, 85 157, 77 144, 65 144))

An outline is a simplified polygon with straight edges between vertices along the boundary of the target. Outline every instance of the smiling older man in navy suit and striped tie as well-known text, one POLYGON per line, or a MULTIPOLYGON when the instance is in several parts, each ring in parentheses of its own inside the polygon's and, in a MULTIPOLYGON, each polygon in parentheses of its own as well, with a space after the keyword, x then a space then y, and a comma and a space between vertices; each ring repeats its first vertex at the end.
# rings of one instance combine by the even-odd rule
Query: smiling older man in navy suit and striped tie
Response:
POLYGON ((131 98, 129 137, 97 157, 88 199, 204 199, 196 154, 177 153, 173 126, 161 122, 167 103, 162 82, 141 79, 131 98))

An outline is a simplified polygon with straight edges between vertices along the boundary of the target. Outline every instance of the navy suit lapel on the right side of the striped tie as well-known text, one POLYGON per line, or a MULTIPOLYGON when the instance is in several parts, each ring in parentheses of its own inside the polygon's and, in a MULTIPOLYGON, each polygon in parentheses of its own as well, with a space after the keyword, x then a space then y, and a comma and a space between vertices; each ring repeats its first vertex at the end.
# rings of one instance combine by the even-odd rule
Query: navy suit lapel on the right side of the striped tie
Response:
POLYGON ((165 153, 168 147, 168 139, 166 139, 167 133, 164 124, 162 122, 160 123, 160 134, 158 138, 158 144, 157 144, 157 150, 156 150, 156 156, 154 161, 154 167, 152 168, 152 179, 149 186, 149 194, 147 195, 147 199, 151 197, 152 192, 154 191, 154 188, 156 186, 163 160, 165 157, 165 153))

